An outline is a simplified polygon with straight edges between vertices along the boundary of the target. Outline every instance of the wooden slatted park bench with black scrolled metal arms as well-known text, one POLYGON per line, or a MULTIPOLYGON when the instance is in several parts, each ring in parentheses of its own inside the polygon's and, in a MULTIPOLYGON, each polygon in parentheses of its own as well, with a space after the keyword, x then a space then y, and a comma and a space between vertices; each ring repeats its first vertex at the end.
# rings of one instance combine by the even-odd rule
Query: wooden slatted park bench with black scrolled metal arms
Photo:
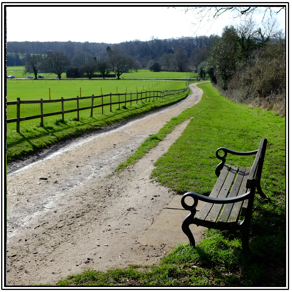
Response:
POLYGON ((215 170, 218 180, 211 194, 203 196, 194 192, 183 195, 181 204, 191 213, 182 224, 183 232, 190 240, 190 245, 195 246, 195 240, 190 231, 190 224, 205 226, 219 230, 240 230, 242 235, 242 248, 248 251, 249 228, 251 223, 254 195, 257 190, 262 198, 266 197, 260 187, 260 177, 263 169, 267 139, 261 139, 258 150, 238 152, 221 147, 216 151, 216 157, 221 159, 215 170), (224 155, 219 156, 218 152, 224 155), (235 155, 253 155, 256 158, 252 167, 230 166, 225 164, 227 153, 235 155), (220 172, 221 171, 221 172, 220 172), (192 197, 194 203, 190 206, 185 203, 187 197, 192 197), (204 205, 197 213, 198 200, 204 201, 204 205))

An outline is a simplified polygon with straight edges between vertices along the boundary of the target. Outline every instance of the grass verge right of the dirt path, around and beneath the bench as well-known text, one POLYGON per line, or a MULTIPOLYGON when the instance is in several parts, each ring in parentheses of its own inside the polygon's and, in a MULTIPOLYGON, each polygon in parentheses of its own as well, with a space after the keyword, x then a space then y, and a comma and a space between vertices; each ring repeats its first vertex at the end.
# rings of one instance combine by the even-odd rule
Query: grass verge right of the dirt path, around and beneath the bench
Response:
MULTIPOLYGON (((256 150, 260 139, 267 138, 261 185, 271 202, 255 198, 251 253, 242 253, 238 232, 210 230, 195 248, 180 244, 159 265, 105 272, 87 270, 70 275, 57 285, 286 286, 286 119, 273 111, 231 102, 210 83, 199 87, 204 90, 199 104, 171 119, 138 152, 147 152, 146 148, 154 147, 176 124, 193 117, 180 138, 158 159, 152 177, 180 194, 209 194, 217 179, 218 147, 256 150)), ((120 167, 131 164, 135 155, 120 167)), ((228 154, 227 159, 229 164, 252 164, 254 157, 228 154)))

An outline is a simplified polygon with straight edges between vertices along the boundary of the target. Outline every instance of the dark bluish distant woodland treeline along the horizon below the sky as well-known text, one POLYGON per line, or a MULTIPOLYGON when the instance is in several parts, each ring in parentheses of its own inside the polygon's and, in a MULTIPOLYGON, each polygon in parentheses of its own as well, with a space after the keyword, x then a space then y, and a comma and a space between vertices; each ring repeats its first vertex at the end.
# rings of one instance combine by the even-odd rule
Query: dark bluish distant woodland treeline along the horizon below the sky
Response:
POLYGON ((125 41, 119 44, 90 43, 85 41, 12 41, 7 43, 7 66, 25 65, 25 58, 30 54, 46 55, 47 51, 64 52, 71 60, 80 52, 97 56, 100 60, 107 56, 106 48, 118 49, 120 53, 127 54, 139 62, 139 67, 149 69, 149 67, 159 62, 161 68, 166 71, 177 71, 171 61, 175 52, 183 48, 185 65, 184 70, 195 69, 202 61, 206 60, 208 51, 213 46, 218 36, 196 36, 179 37, 173 39, 157 39, 152 37, 149 41, 125 41))

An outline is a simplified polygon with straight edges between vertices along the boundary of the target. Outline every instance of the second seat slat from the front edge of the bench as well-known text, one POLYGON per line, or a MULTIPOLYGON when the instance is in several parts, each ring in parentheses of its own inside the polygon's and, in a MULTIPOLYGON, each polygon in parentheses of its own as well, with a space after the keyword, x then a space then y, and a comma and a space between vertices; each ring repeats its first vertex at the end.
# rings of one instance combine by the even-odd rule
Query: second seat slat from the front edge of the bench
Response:
MULTIPOLYGON (((233 184, 235 175, 237 174, 237 171, 238 171, 238 166, 232 166, 230 168, 230 171, 229 171, 228 176, 223 184, 223 187, 221 188, 221 191, 218 195, 218 198, 226 198, 227 197, 229 190, 230 190, 230 187, 233 184)), ((223 206, 223 204, 214 204, 214 206, 210 210, 210 213, 206 217, 206 220, 211 221, 211 222, 216 222, 222 206, 223 206)))

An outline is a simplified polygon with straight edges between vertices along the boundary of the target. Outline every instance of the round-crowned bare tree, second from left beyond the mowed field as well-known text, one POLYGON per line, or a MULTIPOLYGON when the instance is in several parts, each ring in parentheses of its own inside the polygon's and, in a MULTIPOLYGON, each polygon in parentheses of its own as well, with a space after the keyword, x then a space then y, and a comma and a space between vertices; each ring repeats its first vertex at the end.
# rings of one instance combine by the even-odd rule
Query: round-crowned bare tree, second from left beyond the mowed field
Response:
POLYGON ((59 79, 61 79, 61 74, 69 69, 70 64, 69 57, 63 52, 50 54, 45 62, 48 72, 57 74, 59 79))

